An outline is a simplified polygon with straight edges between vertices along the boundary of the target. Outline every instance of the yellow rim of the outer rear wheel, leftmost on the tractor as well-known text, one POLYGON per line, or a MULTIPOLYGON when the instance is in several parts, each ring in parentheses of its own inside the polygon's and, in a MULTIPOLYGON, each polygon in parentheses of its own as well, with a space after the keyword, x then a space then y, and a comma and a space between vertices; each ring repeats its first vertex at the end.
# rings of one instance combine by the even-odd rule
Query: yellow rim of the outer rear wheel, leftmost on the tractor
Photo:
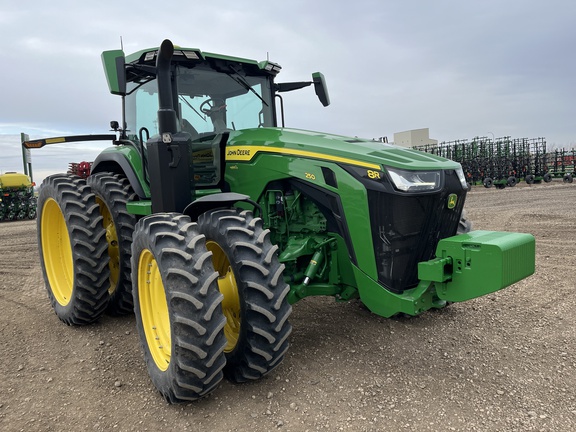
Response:
POLYGON ((74 289, 72 245, 60 206, 49 198, 42 209, 40 241, 46 276, 54 298, 66 306, 74 289))

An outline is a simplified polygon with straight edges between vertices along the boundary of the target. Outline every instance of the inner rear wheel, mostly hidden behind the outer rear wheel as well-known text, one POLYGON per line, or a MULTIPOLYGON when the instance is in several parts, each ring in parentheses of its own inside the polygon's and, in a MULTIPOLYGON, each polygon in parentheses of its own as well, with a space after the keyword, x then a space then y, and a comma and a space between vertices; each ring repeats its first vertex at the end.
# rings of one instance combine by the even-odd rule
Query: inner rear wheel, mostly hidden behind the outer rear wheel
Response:
POLYGON ((111 315, 131 314, 134 311, 134 302, 130 258, 136 217, 128 213, 126 203, 134 199, 134 191, 125 177, 113 173, 93 174, 88 177, 87 183, 96 194, 96 202, 100 205, 108 242, 110 301, 106 312, 111 315))

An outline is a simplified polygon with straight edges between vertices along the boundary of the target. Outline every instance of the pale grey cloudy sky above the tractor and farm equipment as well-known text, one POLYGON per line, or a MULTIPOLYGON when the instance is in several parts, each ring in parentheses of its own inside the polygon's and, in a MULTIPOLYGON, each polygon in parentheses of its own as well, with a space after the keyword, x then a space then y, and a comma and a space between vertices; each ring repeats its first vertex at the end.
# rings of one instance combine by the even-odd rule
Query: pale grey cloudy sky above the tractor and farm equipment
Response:
MULTIPOLYGON (((108 132, 104 50, 165 39, 282 65, 279 81, 326 76, 285 96, 290 127, 393 137, 430 128, 440 141, 545 137, 576 145, 574 0, 163 1, 0 0, 0 172, 22 170, 32 138, 108 132), (155 6, 153 6, 155 5, 155 6)), ((36 150, 34 177, 93 160, 103 145, 36 150)))

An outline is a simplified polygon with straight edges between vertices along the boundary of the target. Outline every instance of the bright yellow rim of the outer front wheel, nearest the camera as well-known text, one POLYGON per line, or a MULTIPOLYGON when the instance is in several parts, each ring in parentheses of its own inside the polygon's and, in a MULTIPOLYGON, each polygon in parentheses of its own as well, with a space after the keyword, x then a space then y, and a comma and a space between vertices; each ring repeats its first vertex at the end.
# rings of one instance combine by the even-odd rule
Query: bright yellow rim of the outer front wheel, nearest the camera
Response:
POLYGON ((165 371, 172 349, 170 316, 158 263, 148 249, 138 261, 138 298, 148 349, 158 369, 165 371))

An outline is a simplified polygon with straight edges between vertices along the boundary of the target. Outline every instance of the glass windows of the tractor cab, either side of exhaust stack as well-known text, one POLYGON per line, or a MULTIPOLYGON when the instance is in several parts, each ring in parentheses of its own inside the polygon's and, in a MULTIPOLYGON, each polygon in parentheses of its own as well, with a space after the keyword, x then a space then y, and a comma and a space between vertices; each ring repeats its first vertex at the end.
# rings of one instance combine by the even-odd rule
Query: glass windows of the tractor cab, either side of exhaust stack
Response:
MULTIPOLYGON (((206 65, 175 66, 180 128, 192 139, 274 126, 272 81, 266 76, 218 72, 206 65)), ((158 86, 155 79, 129 83, 126 96, 128 135, 146 140, 158 134, 158 86)))

